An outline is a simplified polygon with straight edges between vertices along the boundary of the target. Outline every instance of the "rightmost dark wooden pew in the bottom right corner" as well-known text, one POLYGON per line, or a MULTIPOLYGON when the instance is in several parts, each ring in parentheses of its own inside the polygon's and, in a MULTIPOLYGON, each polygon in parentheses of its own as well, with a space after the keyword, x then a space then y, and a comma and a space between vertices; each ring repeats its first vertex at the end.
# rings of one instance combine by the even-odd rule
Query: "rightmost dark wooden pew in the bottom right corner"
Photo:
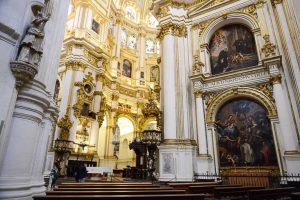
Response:
POLYGON ((260 190, 249 190, 248 198, 249 200, 258 200, 258 199, 282 199, 290 198, 293 187, 286 188, 274 188, 274 189, 260 189, 260 190))

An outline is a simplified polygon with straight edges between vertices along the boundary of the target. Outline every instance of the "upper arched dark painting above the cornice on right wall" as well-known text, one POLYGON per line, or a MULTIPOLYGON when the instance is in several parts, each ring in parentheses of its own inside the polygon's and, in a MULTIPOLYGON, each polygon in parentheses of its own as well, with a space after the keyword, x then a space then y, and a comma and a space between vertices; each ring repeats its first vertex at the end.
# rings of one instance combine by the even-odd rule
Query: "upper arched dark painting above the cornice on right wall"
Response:
POLYGON ((228 25, 214 33, 209 44, 212 74, 258 64, 252 32, 243 25, 228 25))

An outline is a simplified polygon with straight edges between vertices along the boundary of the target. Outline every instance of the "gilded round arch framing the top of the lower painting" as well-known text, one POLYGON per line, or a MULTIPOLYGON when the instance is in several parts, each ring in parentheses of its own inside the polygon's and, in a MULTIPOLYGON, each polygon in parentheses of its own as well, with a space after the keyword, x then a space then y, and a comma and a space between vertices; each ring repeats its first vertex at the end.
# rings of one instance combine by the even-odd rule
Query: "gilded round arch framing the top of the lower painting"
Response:
POLYGON ((206 122, 214 123, 218 110, 228 101, 236 98, 248 98, 260 103, 268 112, 269 116, 277 116, 276 106, 273 100, 258 89, 239 87, 225 90, 218 94, 208 105, 206 122))

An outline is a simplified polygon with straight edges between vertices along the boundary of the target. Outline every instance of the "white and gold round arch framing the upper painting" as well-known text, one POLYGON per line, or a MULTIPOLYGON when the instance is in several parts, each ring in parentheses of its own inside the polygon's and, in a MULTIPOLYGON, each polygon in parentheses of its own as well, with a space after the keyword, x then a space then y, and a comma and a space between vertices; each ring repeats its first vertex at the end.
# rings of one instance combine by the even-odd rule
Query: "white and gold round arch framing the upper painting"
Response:
POLYGON ((259 30, 259 23, 252 15, 242 12, 233 12, 222 15, 210 22, 201 34, 200 44, 208 44, 212 35, 218 29, 229 24, 242 24, 252 30, 259 30))

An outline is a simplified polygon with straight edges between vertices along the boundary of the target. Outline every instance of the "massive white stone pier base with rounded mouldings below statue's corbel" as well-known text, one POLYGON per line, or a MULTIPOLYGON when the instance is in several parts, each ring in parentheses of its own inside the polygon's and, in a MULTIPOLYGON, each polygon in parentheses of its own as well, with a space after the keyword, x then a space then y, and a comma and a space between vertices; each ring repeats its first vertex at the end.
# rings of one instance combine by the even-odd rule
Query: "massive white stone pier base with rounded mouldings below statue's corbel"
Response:
POLYGON ((40 170, 47 149, 48 123, 42 122, 49 104, 45 86, 38 81, 24 86, 18 94, 0 171, 0 196, 3 199, 29 200, 31 195, 45 191, 40 170))

